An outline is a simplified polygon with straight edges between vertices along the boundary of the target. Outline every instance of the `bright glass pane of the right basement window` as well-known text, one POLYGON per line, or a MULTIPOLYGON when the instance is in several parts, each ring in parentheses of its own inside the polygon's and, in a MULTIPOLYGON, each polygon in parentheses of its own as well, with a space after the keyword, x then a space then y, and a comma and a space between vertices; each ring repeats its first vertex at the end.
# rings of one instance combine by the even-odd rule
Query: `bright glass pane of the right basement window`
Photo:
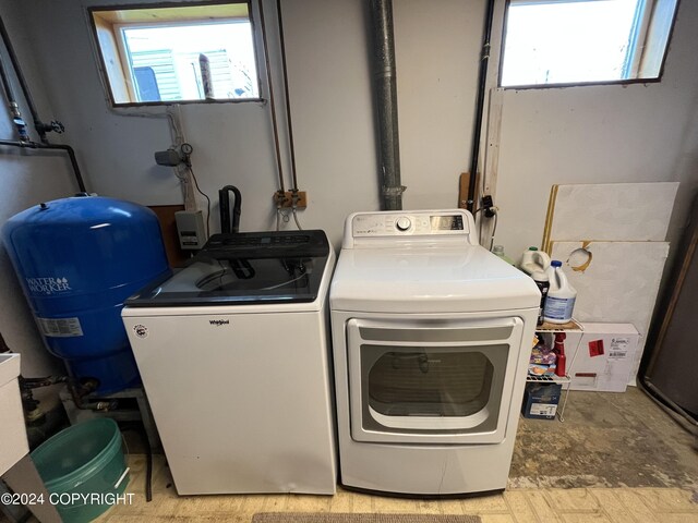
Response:
POLYGON ((513 1, 502 85, 627 78, 638 3, 641 0, 513 1))

